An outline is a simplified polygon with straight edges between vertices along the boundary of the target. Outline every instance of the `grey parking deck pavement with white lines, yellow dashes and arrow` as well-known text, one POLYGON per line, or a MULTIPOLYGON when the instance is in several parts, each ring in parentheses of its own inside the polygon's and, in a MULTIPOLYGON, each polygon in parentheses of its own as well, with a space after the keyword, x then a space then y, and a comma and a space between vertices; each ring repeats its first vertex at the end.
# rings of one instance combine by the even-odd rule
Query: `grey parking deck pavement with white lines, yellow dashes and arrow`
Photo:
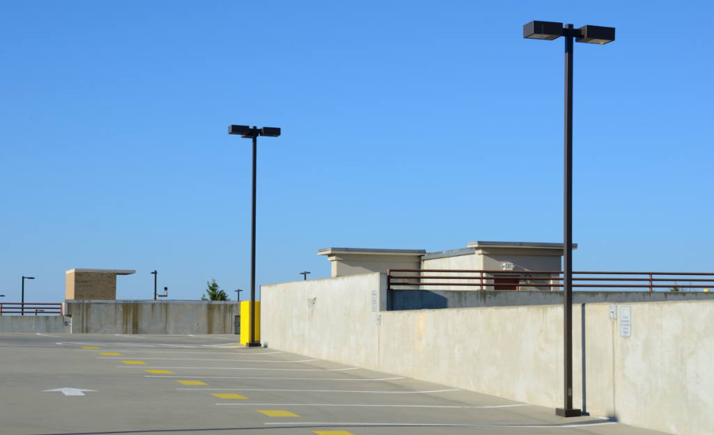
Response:
POLYGON ((0 433, 660 433, 237 342, 0 334, 0 433))

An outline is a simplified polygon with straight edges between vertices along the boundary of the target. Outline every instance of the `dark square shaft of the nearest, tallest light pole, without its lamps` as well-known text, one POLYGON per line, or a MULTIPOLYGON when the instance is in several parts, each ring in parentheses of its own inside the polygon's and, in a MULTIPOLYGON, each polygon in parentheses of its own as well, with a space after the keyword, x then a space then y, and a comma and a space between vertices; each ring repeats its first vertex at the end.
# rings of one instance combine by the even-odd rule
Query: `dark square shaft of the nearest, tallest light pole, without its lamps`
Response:
POLYGON ((565 25, 565 191, 563 195, 563 379, 573 409, 573 24, 565 25))

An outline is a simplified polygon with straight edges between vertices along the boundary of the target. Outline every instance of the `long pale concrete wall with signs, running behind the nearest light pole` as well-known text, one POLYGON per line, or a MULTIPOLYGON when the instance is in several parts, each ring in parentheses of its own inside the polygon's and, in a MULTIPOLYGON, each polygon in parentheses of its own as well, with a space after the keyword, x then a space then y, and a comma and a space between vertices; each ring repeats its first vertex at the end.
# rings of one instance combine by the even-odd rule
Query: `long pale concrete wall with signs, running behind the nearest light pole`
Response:
MULTIPOLYGON (((560 305, 386 312, 385 288, 383 274, 263 286, 263 343, 533 404, 562 406, 560 305), (378 290, 380 312, 371 311, 372 290, 378 290)), ((584 310, 575 306, 575 406, 675 434, 710 434, 714 300, 627 304, 632 310, 631 337, 620 337, 620 319, 609 319, 609 303, 588 303, 584 310)))

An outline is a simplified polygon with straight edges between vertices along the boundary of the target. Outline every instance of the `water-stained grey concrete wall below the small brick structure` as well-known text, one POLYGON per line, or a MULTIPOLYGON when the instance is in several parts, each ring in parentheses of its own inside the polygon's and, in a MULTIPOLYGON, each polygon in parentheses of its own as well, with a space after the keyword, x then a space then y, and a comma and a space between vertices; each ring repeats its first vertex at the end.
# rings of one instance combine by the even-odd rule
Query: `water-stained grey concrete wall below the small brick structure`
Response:
POLYGON ((240 315, 231 301, 68 300, 72 333, 233 334, 240 315))

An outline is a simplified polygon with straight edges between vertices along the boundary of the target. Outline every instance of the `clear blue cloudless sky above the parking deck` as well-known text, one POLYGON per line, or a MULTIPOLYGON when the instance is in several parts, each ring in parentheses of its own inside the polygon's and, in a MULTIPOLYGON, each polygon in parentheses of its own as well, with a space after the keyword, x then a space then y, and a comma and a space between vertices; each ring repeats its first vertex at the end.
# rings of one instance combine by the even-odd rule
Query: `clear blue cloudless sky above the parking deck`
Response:
MULTIPOLYGON (((575 270, 713 272, 709 1, 1 1, 0 294, 136 269, 119 299, 328 277, 323 247, 563 240, 575 44, 575 270)), ((246 293, 243 293, 246 295, 246 293)))

